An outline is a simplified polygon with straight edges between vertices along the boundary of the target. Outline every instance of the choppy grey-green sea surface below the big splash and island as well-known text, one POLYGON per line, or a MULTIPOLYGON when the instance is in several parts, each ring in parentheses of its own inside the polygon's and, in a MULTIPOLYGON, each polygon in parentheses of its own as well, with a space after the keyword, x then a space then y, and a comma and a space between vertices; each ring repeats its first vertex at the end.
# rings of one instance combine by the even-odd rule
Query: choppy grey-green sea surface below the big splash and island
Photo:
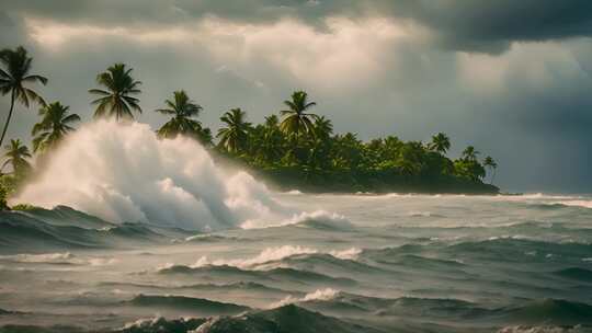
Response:
POLYGON ((2 213, 0 331, 592 332, 592 198, 274 198, 327 213, 200 234, 2 213))

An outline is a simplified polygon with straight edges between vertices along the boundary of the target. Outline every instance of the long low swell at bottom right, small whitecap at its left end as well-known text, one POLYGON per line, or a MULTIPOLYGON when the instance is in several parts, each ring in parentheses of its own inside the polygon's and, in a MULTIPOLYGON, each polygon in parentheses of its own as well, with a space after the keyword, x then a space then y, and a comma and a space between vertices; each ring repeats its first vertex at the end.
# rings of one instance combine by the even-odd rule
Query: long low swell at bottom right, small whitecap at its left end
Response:
POLYGON ((459 299, 395 299, 348 294, 331 288, 318 289, 305 297, 286 297, 272 306, 296 303, 299 307, 335 315, 397 317, 421 315, 431 319, 502 322, 519 324, 577 325, 592 323, 592 306, 560 299, 531 300, 522 305, 482 308, 459 299))

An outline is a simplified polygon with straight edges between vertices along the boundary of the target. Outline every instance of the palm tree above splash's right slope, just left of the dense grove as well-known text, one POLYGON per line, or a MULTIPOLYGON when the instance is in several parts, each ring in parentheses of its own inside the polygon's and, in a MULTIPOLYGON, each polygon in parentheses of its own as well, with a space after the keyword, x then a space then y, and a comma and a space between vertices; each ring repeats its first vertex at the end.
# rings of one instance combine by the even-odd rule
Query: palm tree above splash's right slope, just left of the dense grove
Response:
POLYGON ((171 115, 172 118, 157 130, 159 137, 174 138, 178 135, 201 137, 202 123, 192 118, 200 115, 202 106, 195 104, 183 90, 173 92, 173 99, 164 101, 164 104, 167 108, 159 108, 156 112, 171 115))

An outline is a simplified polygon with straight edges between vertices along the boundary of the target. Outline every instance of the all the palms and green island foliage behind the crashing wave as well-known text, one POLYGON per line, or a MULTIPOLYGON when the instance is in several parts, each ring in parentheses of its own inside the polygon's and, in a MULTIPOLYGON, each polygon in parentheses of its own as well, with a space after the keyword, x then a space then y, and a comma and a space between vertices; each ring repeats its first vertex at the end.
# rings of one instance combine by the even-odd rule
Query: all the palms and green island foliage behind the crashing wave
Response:
MULTIPOLYGON (((10 97, 10 110, 0 137, 3 148, 0 169, 0 208, 29 177, 43 171, 44 161, 76 130, 79 115, 60 101, 47 102, 31 85, 48 79, 32 73, 33 58, 22 46, 0 51, 0 93, 10 97), (32 149, 18 138, 4 137, 18 106, 39 106, 39 122, 32 124, 32 149), (35 163, 31 160, 35 158, 35 163)), ((134 120, 140 114, 141 82, 133 69, 115 64, 96 77, 90 89, 94 118, 134 120)), ((240 107, 224 113, 216 135, 200 122, 203 107, 185 91, 174 91, 156 110, 168 119, 157 130, 162 139, 187 136, 200 141, 220 163, 230 161, 266 181, 272 188, 303 192, 464 193, 496 194, 492 185, 497 163, 491 157, 466 147, 457 159, 446 156, 447 135, 439 133, 430 142, 403 141, 396 136, 362 141, 354 133, 338 134, 331 119, 317 113, 317 103, 305 91, 295 91, 277 114, 262 124, 248 122, 240 107), (490 175, 489 183, 485 179, 490 175)))

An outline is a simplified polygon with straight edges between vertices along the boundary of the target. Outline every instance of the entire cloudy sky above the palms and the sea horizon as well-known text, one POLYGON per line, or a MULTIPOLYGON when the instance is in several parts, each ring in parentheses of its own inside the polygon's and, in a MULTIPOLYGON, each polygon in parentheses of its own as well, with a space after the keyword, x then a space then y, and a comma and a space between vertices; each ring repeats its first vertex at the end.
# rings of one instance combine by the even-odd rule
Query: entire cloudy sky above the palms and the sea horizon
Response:
MULTIPOLYGON (((84 120, 116 61, 144 82, 153 126, 179 89, 213 128, 304 89, 338 131, 444 131, 454 156, 473 143, 508 191, 592 193, 591 37, 589 0, 0 0, 0 47, 26 46, 43 95, 84 120)), ((19 107, 8 136, 29 138, 35 118, 19 107)))

